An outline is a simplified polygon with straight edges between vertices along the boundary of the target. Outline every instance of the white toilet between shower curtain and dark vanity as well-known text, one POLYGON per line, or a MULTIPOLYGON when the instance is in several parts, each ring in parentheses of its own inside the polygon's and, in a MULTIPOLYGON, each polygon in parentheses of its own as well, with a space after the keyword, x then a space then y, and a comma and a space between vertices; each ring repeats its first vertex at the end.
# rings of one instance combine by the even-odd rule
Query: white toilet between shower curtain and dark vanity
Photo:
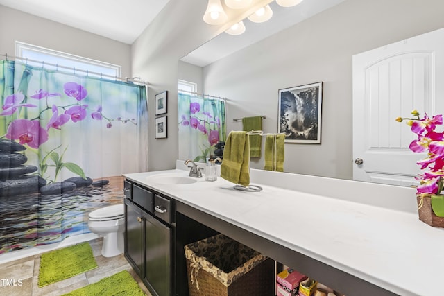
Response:
POLYGON ((112 257, 123 253, 123 231, 125 230, 123 204, 96 209, 88 215, 91 232, 103 236, 102 256, 112 257))

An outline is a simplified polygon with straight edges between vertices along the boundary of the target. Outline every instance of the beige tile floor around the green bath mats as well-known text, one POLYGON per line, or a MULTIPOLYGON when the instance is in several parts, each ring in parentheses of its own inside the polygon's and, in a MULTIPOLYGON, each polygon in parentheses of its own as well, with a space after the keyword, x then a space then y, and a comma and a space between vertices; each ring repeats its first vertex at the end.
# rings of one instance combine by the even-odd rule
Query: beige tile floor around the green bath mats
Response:
POLYGON ((110 258, 105 258, 101 255, 102 241, 103 238, 96 238, 89 241, 98 268, 42 288, 39 288, 37 285, 41 254, 0 264, 0 295, 57 296, 95 283, 121 270, 128 270, 146 295, 151 296, 123 254, 110 258))

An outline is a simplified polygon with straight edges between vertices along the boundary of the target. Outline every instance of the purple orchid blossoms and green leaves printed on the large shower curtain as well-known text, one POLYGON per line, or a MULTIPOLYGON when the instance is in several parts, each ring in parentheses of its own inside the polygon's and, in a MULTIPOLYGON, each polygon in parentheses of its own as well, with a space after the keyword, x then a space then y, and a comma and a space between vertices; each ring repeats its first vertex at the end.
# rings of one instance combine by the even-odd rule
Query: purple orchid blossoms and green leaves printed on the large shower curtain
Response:
MULTIPOLYGON (((89 110, 88 105, 83 104, 83 100, 87 98, 88 95, 87 89, 76 82, 65 83, 63 86, 63 93, 66 94, 68 98, 74 98, 74 103, 69 103, 68 105, 50 104, 50 98, 62 97, 62 94, 58 92, 50 93, 44 89, 39 89, 35 94, 28 96, 28 98, 33 98, 37 101, 46 100, 46 107, 39 110, 38 116, 33 119, 28 119, 26 115, 27 112, 22 112, 22 108, 35 108, 38 107, 37 105, 42 106, 41 102, 38 102, 37 105, 26 102, 26 96, 22 94, 22 92, 6 96, 2 106, 3 112, 0 113, 0 116, 10 116, 10 123, 7 132, 3 137, 12 141, 18 141, 20 144, 26 145, 29 148, 38 149, 43 143, 48 141, 49 130, 61 130, 62 126, 69 123, 69 121, 72 121, 73 123, 83 121, 87 118, 88 112, 90 112, 90 116, 94 120, 102 121, 104 119, 105 121, 108 121, 106 124, 107 128, 112 127, 112 121, 137 124, 135 119, 123 120, 120 117, 117 119, 108 119, 104 116, 101 105, 96 106, 94 110, 89 110), (43 117, 45 112, 52 112, 52 115, 46 123, 46 126, 43 128, 40 123, 42 119, 47 118, 43 117)), ((51 180, 52 182, 55 182, 58 173, 60 173, 60 170, 64 167, 81 177, 85 177, 83 170, 76 164, 62 162, 62 155, 59 157, 59 155, 55 153, 57 148, 54 148, 45 157, 40 159, 39 175, 44 177, 43 175, 46 173, 47 168, 49 166, 54 166, 56 167, 56 176, 51 180), (55 164, 46 164, 46 160, 48 159, 52 159, 55 164)))

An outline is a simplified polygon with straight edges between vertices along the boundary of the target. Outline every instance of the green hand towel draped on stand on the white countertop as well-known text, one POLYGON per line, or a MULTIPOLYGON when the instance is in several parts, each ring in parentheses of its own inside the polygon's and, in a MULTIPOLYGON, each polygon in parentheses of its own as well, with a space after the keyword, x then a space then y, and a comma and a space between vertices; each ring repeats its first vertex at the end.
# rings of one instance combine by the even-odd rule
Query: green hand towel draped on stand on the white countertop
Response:
POLYGON ((223 148, 221 177, 248 186, 250 184, 250 150, 247 132, 230 132, 223 148))

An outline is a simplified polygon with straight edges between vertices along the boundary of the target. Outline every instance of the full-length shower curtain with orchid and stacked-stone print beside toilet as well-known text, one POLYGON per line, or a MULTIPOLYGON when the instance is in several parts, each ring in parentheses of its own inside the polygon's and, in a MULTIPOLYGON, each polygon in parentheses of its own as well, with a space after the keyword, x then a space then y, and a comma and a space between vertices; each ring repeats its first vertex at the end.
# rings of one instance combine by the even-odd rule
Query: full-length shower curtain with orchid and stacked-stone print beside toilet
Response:
POLYGON ((146 89, 0 61, 0 254, 89 232, 147 171, 146 89))

